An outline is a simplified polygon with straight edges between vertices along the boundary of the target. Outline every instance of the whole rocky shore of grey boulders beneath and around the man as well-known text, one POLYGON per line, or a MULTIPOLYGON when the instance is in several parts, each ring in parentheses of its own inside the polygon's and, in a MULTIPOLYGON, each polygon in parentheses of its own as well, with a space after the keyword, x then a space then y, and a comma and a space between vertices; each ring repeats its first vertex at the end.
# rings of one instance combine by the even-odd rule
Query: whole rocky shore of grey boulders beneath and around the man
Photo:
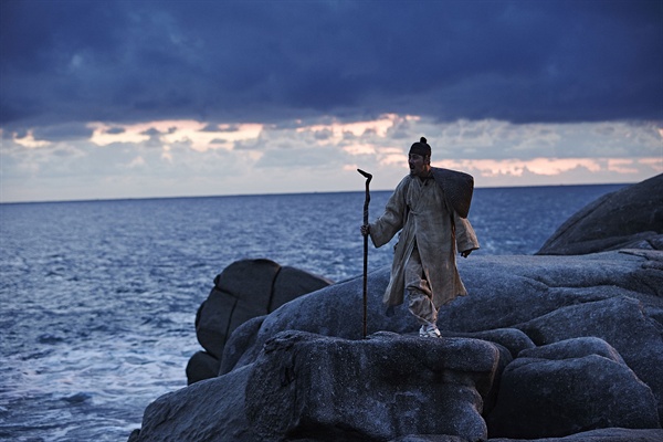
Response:
MULTIPOLYGON (((549 255, 460 260, 470 295, 441 309, 443 339, 419 338, 407 307, 385 315, 388 267, 368 275, 367 339, 361 277, 223 313, 214 333, 228 304, 210 295, 191 360, 219 376, 157 399, 129 440, 661 441, 661 177, 579 212, 549 255)), ((271 263, 214 291, 267 286, 271 263)))

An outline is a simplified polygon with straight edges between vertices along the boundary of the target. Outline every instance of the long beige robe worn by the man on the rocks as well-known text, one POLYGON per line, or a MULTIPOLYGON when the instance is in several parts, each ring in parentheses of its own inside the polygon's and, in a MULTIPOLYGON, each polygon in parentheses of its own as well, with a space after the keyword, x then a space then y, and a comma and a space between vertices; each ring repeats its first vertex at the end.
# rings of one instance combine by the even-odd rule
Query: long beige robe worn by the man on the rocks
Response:
POLYGON ((467 294, 456 269, 455 253, 478 249, 478 241, 470 221, 449 207, 444 191, 434 180, 423 183, 411 176, 403 178, 385 213, 370 224, 370 239, 379 248, 399 231, 391 280, 382 299, 387 306, 403 302, 404 267, 415 243, 435 308, 467 294))

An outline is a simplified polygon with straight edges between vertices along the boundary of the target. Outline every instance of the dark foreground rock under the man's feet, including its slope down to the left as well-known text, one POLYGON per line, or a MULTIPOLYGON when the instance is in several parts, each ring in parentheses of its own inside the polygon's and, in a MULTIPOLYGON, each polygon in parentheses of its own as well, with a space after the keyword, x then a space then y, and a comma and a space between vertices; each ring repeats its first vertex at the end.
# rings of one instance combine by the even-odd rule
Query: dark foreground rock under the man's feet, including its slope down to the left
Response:
POLYGON ((352 341, 286 332, 255 364, 157 399, 130 440, 485 440, 481 411, 498 358, 477 339, 385 333, 352 341))

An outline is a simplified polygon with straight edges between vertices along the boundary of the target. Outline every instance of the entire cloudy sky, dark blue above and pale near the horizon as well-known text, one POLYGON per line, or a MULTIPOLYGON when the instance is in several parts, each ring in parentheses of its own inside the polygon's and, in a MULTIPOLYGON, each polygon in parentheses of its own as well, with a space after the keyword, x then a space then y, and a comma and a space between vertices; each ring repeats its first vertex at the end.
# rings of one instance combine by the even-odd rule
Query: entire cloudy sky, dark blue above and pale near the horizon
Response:
POLYGON ((662 0, 0 4, 0 202, 663 172, 662 0))

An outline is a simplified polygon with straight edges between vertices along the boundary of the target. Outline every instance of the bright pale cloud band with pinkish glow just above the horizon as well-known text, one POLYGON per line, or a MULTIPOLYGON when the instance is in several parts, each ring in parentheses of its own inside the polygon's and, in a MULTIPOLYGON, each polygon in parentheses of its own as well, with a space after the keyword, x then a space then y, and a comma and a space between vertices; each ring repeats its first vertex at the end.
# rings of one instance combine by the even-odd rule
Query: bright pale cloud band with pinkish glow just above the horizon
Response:
POLYGON ((87 138, 63 140, 67 127, 42 127, 52 139, 2 131, 0 201, 360 190, 357 168, 373 173, 375 189, 393 189, 421 135, 433 165, 467 171, 477 187, 635 182, 663 173, 663 137, 653 123, 439 123, 386 114, 229 130, 185 119, 93 123, 87 138))

